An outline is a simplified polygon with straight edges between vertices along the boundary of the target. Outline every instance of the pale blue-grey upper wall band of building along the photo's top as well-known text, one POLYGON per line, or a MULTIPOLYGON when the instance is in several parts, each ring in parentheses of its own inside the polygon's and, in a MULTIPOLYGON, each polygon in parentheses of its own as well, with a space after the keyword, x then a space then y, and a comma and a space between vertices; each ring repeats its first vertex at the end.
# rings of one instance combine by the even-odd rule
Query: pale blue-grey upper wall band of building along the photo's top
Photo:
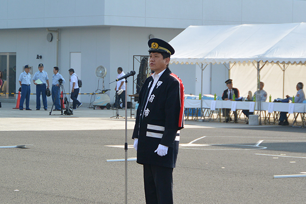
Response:
POLYGON ((301 0, 2 0, 0 29, 290 23, 306 21, 305 9, 301 0))

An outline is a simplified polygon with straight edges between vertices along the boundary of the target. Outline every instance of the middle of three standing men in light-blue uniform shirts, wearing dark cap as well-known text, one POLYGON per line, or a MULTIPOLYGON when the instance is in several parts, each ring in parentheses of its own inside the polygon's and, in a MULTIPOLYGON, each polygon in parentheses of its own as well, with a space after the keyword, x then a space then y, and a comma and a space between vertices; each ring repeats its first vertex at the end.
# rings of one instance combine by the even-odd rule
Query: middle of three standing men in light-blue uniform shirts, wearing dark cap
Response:
POLYGON ((43 109, 48 110, 46 89, 49 88, 49 78, 43 70, 43 64, 38 65, 38 71, 34 74, 33 82, 36 85, 36 110, 40 110, 40 94, 42 97, 43 109), (46 87, 46 83, 48 86, 46 87))

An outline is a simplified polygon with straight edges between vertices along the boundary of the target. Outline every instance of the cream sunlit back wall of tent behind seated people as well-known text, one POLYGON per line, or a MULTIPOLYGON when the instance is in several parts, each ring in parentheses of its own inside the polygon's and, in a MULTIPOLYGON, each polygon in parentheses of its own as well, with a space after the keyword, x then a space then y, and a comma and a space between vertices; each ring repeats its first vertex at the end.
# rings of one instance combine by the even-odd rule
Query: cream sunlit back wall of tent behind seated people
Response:
MULTIPOLYGON (((264 63, 260 63, 263 66, 264 63)), ((257 65, 257 63, 255 63, 257 65)), ((283 67, 283 65, 281 64, 283 67)), ((285 65, 287 67, 288 65, 285 65)), ((286 95, 296 95, 296 84, 306 83, 306 67, 305 65, 289 65, 284 72, 278 64, 267 63, 260 72, 261 80, 265 83, 264 90, 271 95, 272 101, 275 98, 286 98, 286 95), (283 83, 284 81, 284 83, 283 83), (284 96, 283 96, 283 84, 284 96)), ((257 69, 252 63, 237 63, 231 69, 231 78, 233 79, 234 87, 240 91, 240 96, 246 97, 248 91, 253 94, 257 90, 257 69)))

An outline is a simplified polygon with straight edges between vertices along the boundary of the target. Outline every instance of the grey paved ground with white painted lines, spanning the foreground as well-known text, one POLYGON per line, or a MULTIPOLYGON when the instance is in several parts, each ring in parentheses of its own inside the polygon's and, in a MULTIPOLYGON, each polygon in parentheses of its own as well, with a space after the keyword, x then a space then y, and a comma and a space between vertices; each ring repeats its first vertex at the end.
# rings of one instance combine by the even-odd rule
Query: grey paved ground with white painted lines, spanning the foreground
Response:
MULTIPOLYGON (((124 203, 125 119, 83 105, 73 115, 0 108, 0 203, 124 203), (110 160, 115 160, 110 162, 110 160)), ((32 106, 33 109, 34 106, 32 106)), ((127 110, 127 200, 145 203, 127 110)), ((125 116, 119 110, 118 115, 125 116)), ((133 116, 134 117, 134 116, 133 116)), ((305 203, 306 129, 185 121, 175 203, 305 203)))

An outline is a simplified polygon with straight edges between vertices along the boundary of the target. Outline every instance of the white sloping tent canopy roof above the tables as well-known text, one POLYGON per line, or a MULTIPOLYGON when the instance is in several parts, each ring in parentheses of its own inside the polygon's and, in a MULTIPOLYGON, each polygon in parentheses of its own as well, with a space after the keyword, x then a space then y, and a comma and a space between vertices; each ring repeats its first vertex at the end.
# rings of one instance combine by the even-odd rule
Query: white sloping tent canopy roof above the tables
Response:
POLYGON ((210 63, 230 64, 229 70, 238 64, 255 67, 258 89, 260 70, 277 66, 284 97, 285 70, 289 65, 304 69, 306 23, 190 26, 169 43, 175 48, 170 63, 199 64, 202 71, 210 63))

